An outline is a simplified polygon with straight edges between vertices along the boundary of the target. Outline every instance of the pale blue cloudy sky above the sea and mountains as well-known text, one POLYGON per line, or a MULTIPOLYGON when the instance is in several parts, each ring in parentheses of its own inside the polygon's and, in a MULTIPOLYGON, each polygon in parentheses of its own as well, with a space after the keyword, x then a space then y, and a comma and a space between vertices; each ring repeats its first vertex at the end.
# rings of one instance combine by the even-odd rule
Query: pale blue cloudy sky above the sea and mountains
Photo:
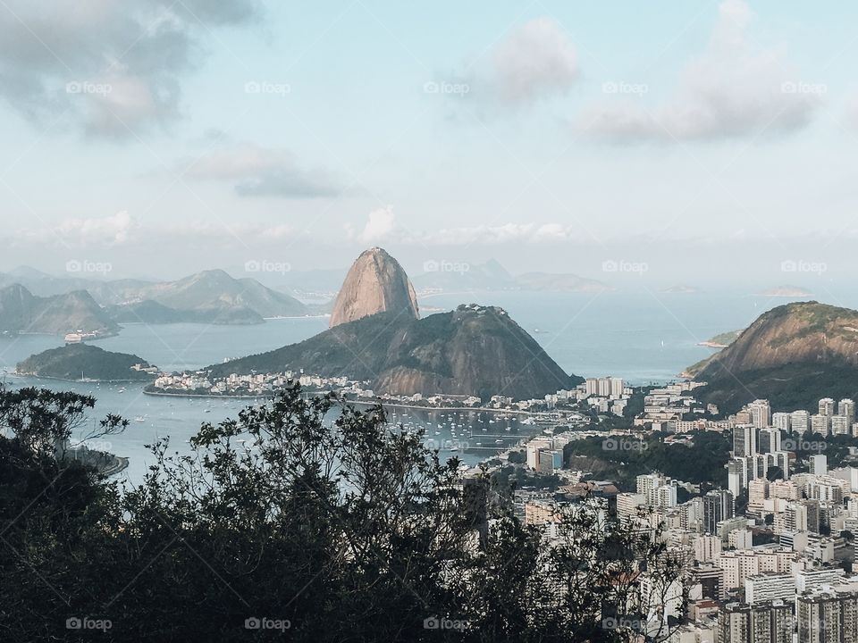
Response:
POLYGON ((2 0, 0 270, 845 281, 856 13, 2 0))

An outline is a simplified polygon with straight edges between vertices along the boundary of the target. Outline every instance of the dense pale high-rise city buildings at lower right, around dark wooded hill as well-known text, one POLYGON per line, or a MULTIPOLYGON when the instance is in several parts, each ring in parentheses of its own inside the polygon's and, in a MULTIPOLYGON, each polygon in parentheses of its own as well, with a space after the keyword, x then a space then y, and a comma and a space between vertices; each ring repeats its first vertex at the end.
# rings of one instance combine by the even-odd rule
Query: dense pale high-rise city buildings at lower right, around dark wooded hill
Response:
MULTIPOLYGON (((586 386, 598 395, 598 384, 586 386)), ((669 643, 858 643, 858 468, 830 468, 824 439, 858 437, 854 401, 823 398, 818 413, 772 413, 768 401, 755 400, 714 420, 717 409, 698 405, 693 388, 650 391, 635 429, 726 433, 732 451, 722 489, 702 493, 660 472, 637 476, 627 492, 610 480, 582 481, 585 473, 557 468, 562 447, 580 438, 570 431, 526 444, 527 468, 566 484, 517 490, 516 513, 551 539, 562 507, 587 497, 623 529, 658 533, 683 569, 657 615, 673 617, 669 643), (687 419, 695 413, 702 417, 687 419)), ((644 594, 647 583, 642 572, 644 594)))

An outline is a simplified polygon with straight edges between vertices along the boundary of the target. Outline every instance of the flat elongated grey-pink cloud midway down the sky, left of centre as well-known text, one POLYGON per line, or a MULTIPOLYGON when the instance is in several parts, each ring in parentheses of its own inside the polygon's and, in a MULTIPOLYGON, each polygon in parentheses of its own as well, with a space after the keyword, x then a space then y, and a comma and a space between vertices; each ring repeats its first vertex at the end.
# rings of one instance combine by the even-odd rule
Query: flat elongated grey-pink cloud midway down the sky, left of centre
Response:
POLYGON ((185 173, 189 178, 230 181, 239 196, 317 198, 349 192, 329 171, 301 168, 284 150, 249 143, 214 150, 184 164, 188 166, 185 173))

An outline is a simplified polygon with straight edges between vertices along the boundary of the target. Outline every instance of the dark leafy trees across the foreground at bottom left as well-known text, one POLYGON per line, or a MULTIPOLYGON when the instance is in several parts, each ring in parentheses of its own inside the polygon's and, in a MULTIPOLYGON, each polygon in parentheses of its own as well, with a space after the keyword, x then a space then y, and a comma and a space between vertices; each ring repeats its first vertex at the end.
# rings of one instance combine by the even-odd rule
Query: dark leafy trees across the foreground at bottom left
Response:
POLYGON ((381 407, 287 388, 204 424, 191 455, 154 445, 118 489, 43 447, 91 408, 45 395, 0 392, 2 640, 631 640, 605 614, 647 618, 641 573, 677 578, 657 535, 595 505, 550 540, 487 515, 488 477, 461 480, 381 407))

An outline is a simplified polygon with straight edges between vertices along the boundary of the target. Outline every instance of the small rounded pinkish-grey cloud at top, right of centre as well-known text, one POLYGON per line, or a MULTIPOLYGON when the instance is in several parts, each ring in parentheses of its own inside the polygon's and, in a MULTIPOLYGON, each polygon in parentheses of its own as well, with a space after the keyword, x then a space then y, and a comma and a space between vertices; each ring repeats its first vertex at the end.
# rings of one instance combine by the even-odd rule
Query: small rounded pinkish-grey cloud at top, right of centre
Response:
POLYGON ((538 18, 512 31, 463 75, 467 98, 518 107, 568 92, 578 79, 575 47, 556 21, 538 18))

